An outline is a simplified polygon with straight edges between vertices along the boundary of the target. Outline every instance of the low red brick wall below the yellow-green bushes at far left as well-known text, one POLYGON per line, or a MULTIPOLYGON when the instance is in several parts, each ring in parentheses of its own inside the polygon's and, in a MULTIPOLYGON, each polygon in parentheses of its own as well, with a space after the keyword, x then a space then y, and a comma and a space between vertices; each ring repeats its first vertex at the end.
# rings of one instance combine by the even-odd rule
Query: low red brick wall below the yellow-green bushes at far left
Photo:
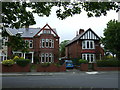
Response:
POLYGON ((2 65, 2 72, 30 72, 30 64, 25 67, 21 67, 17 64, 12 66, 2 65))

